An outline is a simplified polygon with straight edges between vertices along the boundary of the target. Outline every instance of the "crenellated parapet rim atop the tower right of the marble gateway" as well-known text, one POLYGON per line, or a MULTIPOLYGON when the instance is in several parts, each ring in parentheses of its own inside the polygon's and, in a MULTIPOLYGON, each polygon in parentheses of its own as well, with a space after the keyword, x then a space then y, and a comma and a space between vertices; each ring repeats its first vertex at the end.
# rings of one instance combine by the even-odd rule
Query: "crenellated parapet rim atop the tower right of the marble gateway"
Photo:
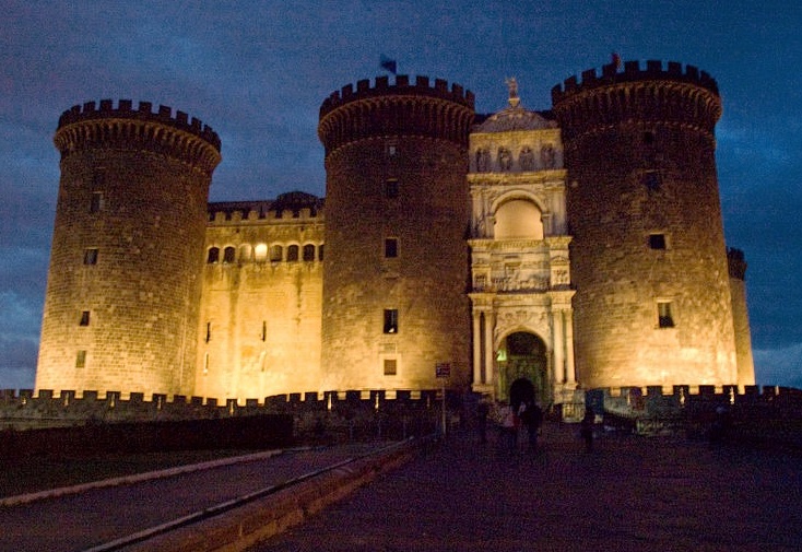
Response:
POLYGON ((669 61, 663 67, 660 60, 648 60, 646 68, 641 68, 639 61, 626 61, 624 70, 609 63, 602 67, 601 74, 595 69, 588 69, 581 73, 581 82, 576 75, 569 77, 564 83, 557 84, 552 89, 552 103, 563 102, 574 94, 587 92, 600 86, 608 86, 617 83, 632 83, 640 81, 674 81, 680 83, 689 83, 696 86, 707 89, 715 95, 719 94, 719 87, 716 80, 705 71, 699 71, 694 66, 685 66, 677 61, 669 61))

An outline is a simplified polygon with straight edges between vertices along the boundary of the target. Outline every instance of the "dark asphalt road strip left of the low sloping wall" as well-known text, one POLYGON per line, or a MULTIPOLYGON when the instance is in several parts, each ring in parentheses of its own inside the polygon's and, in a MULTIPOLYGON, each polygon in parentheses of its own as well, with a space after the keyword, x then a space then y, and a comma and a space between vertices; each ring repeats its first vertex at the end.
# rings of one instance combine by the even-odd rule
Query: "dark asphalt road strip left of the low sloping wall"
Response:
POLYGON ((283 454, 137 484, 0 507, 0 551, 74 552, 297 478, 368 446, 283 454))

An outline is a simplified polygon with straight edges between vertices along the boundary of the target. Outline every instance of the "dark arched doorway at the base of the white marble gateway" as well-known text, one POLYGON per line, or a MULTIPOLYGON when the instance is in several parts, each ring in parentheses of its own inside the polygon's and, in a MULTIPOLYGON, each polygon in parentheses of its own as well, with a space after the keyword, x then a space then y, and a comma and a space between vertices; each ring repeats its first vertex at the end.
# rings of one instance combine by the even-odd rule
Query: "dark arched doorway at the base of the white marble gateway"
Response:
POLYGON ((534 333, 516 331, 507 336, 496 354, 496 396, 514 404, 535 400, 552 404, 546 344, 534 333))

